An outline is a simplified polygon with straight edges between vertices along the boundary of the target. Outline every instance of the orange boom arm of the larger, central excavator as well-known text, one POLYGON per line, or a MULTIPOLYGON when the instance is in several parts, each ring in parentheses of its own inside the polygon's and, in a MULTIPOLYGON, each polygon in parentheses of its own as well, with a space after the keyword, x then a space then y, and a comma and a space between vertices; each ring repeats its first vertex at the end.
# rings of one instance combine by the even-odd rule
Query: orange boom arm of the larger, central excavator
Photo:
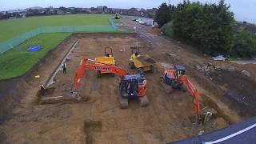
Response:
POLYGON ((82 80, 83 75, 85 74, 86 69, 99 70, 102 72, 110 72, 110 73, 118 74, 119 77, 122 77, 125 74, 128 74, 128 72, 126 70, 123 70, 122 67, 105 64, 105 63, 98 63, 98 62, 95 62, 94 60, 82 58, 82 61, 78 66, 76 76, 74 77, 73 90, 78 89, 78 86, 82 80))

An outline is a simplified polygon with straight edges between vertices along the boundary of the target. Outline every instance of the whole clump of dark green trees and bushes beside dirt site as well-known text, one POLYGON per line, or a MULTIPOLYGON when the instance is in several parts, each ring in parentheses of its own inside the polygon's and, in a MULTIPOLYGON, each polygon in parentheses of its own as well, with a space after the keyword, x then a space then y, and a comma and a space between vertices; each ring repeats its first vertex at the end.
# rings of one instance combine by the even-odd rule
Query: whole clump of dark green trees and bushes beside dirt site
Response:
POLYGON ((170 37, 193 43, 206 54, 231 54, 238 57, 256 55, 256 35, 234 31, 234 14, 224 0, 217 4, 184 0, 178 6, 159 6, 155 20, 170 37), (166 15, 170 16, 166 17, 166 15))

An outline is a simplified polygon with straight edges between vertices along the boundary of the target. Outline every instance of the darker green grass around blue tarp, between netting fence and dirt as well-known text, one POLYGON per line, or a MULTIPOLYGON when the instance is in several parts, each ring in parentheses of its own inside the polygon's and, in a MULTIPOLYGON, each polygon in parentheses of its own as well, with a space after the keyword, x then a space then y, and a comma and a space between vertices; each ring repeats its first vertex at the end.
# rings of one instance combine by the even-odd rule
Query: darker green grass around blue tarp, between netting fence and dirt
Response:
POLYGON ((13 78, 25 74, 42 58, 48 50, 58 46, 70 33, 39 34, 31 38, 30 42, 40 42, 42 50, 29 52, 28 42, 23 42, 15 49, 0 55, 0 80, 13 78))

